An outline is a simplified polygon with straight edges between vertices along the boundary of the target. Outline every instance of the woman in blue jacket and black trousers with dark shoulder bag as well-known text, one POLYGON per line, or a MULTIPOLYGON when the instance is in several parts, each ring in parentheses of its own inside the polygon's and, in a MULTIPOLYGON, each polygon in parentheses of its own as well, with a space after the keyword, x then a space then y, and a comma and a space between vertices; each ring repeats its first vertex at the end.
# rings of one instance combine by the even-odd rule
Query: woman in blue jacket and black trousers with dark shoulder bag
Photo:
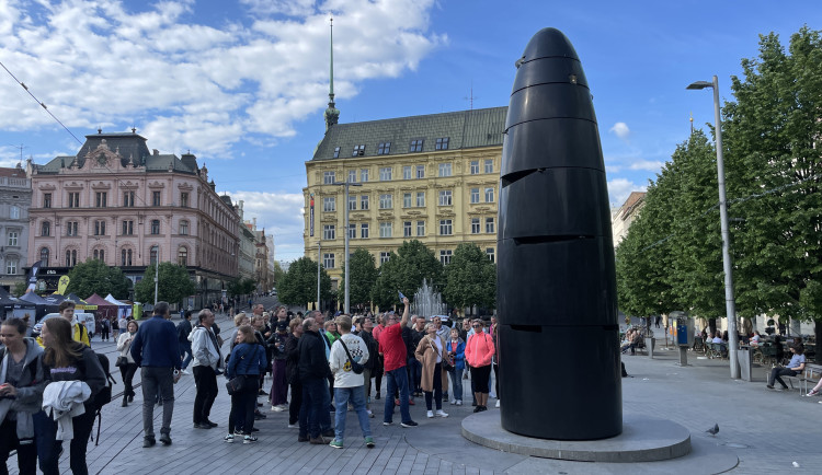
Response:
POLYGON ((242 438, 243 443, 256 442, 253 436, 254 409, 260 391, 260 378, 265 374, 265 349, 256 340, 254 329, 243 325, 237 331, 237 345, 226 367, 226 376, 244 379, 242 389, 231 394, 231 412, 228 418, 226 442, 242 438))

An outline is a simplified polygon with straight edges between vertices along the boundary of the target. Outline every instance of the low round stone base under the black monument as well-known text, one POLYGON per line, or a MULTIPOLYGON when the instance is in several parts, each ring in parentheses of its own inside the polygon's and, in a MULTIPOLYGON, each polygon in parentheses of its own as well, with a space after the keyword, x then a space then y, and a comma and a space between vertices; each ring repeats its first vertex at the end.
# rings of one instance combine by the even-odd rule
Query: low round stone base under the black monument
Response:
POLYGON ((623 433, 600 440, 547 440, 504 430, 500 412, 463 419, 463 437, 491 449, 521 455, 575 462, 657 462, 690 452, 690 432, 670 420, 624 415, 623 433))

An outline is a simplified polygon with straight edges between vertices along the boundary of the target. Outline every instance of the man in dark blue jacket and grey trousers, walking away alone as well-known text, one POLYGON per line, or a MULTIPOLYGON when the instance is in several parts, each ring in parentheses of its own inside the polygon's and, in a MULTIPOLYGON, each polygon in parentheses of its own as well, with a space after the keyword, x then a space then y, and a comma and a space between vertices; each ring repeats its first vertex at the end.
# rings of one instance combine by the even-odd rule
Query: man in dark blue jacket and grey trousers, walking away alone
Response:
POLYGON ((174 383, 180 379, 180 344, 176 328, 169 322, 168 302, 157 302, 155 313, 140 325, 132 341, 132 358, 140 367, 142 379, 142 447, 155 440, 155 402, 162 401, 160 442, 171 445, 171 418, 174 415, 174 383))

